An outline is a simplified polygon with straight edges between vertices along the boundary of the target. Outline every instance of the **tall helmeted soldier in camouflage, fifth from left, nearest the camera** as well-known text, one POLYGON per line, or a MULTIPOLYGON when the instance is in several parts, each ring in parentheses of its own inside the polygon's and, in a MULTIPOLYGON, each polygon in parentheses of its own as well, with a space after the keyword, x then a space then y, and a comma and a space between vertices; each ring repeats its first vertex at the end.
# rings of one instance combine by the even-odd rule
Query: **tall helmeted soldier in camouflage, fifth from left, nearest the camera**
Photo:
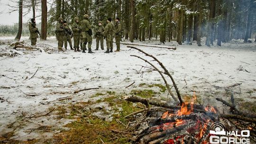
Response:
POLYGON ((91 51, 91 44, 92 44, 92 31, 91 31, 91 24, 89 22, 89 15, 85 14, 83 16, 83 20, 81 22, 81 28, 82 28, 82 38, 84 40, 82 45, 82 53, 85 53, 86 44, 88 43, 88 53, 92 54, 91 51))

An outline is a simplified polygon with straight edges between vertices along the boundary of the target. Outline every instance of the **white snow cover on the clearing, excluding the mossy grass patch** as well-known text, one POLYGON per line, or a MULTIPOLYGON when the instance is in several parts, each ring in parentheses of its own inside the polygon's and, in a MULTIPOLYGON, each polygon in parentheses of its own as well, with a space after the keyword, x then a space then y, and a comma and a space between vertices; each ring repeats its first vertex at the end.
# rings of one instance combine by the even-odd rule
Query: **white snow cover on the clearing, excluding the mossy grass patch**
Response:
MULTIPOLYGON (((9 38, 0 38, 0 40, 6 39, 9 38)), ((29 43, 27 37, 23 40, 29 43)), ((55 38, 37 43, 57 46, 55 38)), ((144 44, 156 45, 159 42, 144 42, 144 44)), ((95 49, 95 45, 95 39, 93 39, 92 50, 95 49)), ((232 43, 222 44, 221 47, 177 45, 176 42, 165 45, 177 46, 177 50, 135 47, 155 55, 169 72, 173 73, 182 94, 193 94, 195 91, 196 95, 201 96, 204 105, 218 105, 219 102, 212 99, 216 97, 229 99, 229 96, 224 96, 225 88, 239 83, 238 86, 229 87, 229 90, 235 93, 235 98, 255 101, 256 43, 243 44, 241 41, 234 40, 232 43)), ((0 48, 5 46, 0 45, 0 48)), ((147 64, 130 55, 152 59, 137 50, 128 48, 127 45, 121 45, 119 53, 104 54, 105 51, 101 50, 94 52, 95 54, 74 53, 68 46, 65 54, 34 51, 16 57, 0 57, 0 135, 7 133, 8 124, 16 121, 24 112, 30 114, 44 112, 47 108, 60 105, 61 103, 56 101, 59 98, 70 97, 73 102, 88 101, 90 95, 104 90, 123 93, 137 88, 140 83, 164 85, 157 72, 144 72, 143 77, 138 73, 141 69, 140 65, 147 64), (37 73, 32 77, 36 71, 37 73), (125 88, 134 81, 131 87, 125 88), (100 89, 73 93, 75 90, 95 87, 100 89), (27 96, 25 93, 38 96, 27 96)), ((168 81, 171 83, 170 80, 168 81)), ((166 95, 167 92, 163 97, 166 95)), ((50 123, 50 119, 42 118, 41 120, 50 123)), ((52 125, 62 126, 65 123, 68 121, 63 120, 52 125)), ((30 128, 35 125, 30 125, 30 128)), ((40 121, 37 121, 37 125, 41 125, 40 121)), ((16 135, 27 134, 24 131, 16 133, 16 135)), ((22 138, 27 136, 19 139, 22 138)))

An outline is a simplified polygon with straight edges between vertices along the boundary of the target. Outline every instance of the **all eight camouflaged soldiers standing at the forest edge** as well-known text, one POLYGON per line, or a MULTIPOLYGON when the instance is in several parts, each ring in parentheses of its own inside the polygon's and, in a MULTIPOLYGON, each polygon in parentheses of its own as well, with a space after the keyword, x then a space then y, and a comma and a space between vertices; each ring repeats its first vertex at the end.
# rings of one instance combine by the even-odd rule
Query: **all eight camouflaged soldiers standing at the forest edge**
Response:
MULTIPOLYGON (((106 38, 107 51, 105 53, 113 52, 113 38, 115 37, 117 50, 115 52, 120 51, 120 41, 122 36, 122 26, 120 23, 120 19, 115 19, 115 25, 111 22, 112 19, 107 19, 106 27, 102 26, 102 21, 98 22, 98 25, 94 29, 94 36, 96 37, 96 49, 99 50, 99 43, 101 43, 101 50, 104 50, 103 40, 106 38)), ((63 18, 58 18, 56 24, 56 38, 58 40, 58 50, 65 51, 67 50, 67 43, 69 43, 71 50, 74 52, 81 52, 80 47, 82 49, 82 53, 85 53, 87 50, 86 45, 88 47, 88 53, 94 53, 91 50, 92 44, 92 29, 91 23, 89 22, 89 15, 85 14, 83 16, 83 20, 80 22, 78 17, 73 19, 73 24, 71 28, 67 25, 67 22, 63 18), (71 39, 73 38, 74 45, 72 45, 71 39), (63 45, 65 50, 63 50, 63 45)), ((29 31, 30 31, 30 39, 31 45, 36 45, 37 42, 37 34, 40 34, 38 28, 36 27, 35 19, 31 19, 31 23, 29 23, 29 31)))

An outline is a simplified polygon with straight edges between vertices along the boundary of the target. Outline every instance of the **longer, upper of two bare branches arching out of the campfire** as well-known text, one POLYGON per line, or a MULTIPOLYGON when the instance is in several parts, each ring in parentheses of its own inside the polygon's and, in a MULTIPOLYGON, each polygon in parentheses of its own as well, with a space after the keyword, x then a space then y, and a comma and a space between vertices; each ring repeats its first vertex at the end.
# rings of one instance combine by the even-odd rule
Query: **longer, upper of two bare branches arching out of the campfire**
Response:
MULTIPOLYGON (((178 96, 178 98, 179 98, 179 100, 180 100, 180 104, 182 105, 183 100, 182 100, 182 98, 181 98, 181 95, 180 95, 180 92, 179 92, 179 90, 178 90, 178 87, 177 87, 177 85, 176 85, 176 83, 175 83, 175 81, 174 81, 172 75, 170 74, 170 72, 168 72, 168 70, 165 68, 165 66, 163 65, 163 63, 161 63, 157 58, 155 58, 155 56, 153 56, 153 55, 151 55, 151 54, 147 54, 146 52, 144 52, 144 51, 141 50, 141 49, 138 49, 138 48, 133 47, 133 46, 127 46, 127 47, 136 49, 136 50, 140 51, 141 53, 146 54, 146 56, 152 57, 157 63, 159 63, 159 65, 165 70, 165 74, 168 75, 168 76, 170 77, 170 79, 172 80, 172 82, 173 82, 173 84, 174 84, 175 91, 176 91, 177 96, 178 96)), ((167 88, 168 88, 168 87, 167 87, 167 88)))

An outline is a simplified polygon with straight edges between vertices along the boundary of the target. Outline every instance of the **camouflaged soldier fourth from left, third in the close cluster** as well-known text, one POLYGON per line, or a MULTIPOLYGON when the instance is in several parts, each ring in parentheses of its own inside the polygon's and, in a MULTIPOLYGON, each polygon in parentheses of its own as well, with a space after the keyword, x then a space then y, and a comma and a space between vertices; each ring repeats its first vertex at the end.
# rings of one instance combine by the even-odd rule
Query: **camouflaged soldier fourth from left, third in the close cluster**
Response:
POLYGON ((80 35, 81 35, 81 27, 79 26, 79 18, 74 18, 74 23, 72 25, 72 31, 73 31, 73 39, 74 39, 74 52, 79 50, 79 44, 80 44, 80 35))

